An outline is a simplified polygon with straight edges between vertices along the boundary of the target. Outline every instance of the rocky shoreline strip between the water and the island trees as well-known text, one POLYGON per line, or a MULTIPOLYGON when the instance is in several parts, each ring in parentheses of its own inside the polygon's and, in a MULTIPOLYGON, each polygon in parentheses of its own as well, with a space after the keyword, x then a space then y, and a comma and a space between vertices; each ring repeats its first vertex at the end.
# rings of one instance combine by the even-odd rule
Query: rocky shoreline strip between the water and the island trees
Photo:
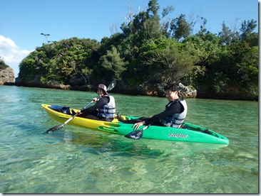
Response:
MULTIPOLYGON (((14 80, 14 70, 11 67, 7 67, 4 70, 0 69, 0 85, 13 85, 18 87, 42 87, 50 89, 66 89, 66 90, 78 90, 93 92, 96 85, 61 85, 56 81, 48 81, 45 83, 36 81, 21 81, 16 77, 14 80)), ((154 87, 151 85, 143 84, 138 86, 126 85, 121 81, 117 81, 116 87, 111 91, 119 94, 128 95, 148 95, 154 97, 165 97, 163 91, 163 85, 157 84, 154 87)), ((184 99, 226 99, 226 100, 245 100, 245 101, 258 101, 258 97, 247 97, 247 94, 240 92, 230 92, 230 94, 215 94, 205 91, 198 92, 193 87, 186 87, 182 83, 179 83, 180 97, 184 99)))

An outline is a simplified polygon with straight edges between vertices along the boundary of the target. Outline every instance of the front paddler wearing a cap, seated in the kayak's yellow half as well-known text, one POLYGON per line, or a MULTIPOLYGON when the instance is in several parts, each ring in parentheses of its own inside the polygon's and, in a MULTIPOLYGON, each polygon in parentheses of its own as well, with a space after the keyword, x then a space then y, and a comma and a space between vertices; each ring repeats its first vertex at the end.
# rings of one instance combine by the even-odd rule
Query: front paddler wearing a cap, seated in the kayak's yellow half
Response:
MULTIPOLYGON (((77 111, 77 116, 86 119, 112 121, 116 116, 116 104, 113 96, 108 94, 106 85, 100 84, 97 89, 98 97, 93 98, 96 102, 91 107, 77 111)), ((73 112, 76 114, 75 112, 73 112)))

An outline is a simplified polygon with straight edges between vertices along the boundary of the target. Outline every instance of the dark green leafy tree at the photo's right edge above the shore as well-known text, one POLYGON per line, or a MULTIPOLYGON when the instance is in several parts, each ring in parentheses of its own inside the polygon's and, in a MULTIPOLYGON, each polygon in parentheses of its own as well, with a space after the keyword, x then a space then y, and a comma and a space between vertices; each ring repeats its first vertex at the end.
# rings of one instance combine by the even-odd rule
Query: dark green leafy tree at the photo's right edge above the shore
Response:
MULTIPOLYGON (((222 92, 235 91, 258 93, 258 47, 249 47, 245 42, 237 41, 222 51, 220 62, 212 75, 222 73, 222 80, 216 80, 215 86, 222 92)), ((215 78, 215 77, 213 77, 215 78)))

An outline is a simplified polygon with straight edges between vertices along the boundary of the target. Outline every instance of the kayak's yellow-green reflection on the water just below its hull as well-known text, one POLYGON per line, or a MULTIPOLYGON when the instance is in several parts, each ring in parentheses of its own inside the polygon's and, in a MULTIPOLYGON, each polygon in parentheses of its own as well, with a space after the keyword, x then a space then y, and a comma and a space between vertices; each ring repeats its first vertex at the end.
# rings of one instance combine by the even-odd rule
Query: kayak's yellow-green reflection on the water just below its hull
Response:
POLYGON ((95 155, 107 154, 109 156, 138 156, 139 158, 159 158, 159 157, 184 157, 197 152, 220 150, 227 144, 215 143, 189 143, 158 141, 142 138, 138 141, 125 138, 124 136, 106 134, 98 131, 84 129, 84 131, 56 131, 49 134, 71 146, 78 146, 85 153, 95 155))

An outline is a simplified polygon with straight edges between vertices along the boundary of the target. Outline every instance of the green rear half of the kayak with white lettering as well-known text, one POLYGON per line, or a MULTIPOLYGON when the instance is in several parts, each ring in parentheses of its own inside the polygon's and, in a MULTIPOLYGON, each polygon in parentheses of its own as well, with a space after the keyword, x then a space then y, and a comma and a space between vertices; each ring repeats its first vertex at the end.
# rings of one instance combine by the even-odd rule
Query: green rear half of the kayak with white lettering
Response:
MULTIPOLYGON (((133 116, 126 116, 127 119, 133 119, 133 116)), ((135 118, 135 117, 134 117, 135 118)), ((150 138, 165 141, 189 141, 203 143, 223 143, 228 144, 229 140, 215 131, 206 129, 190 123, 183 123, 183 128, 172 128, 165 126, 143 126, 143 129, 133 131, 132 124, 111 124, 111 126, 98 126, 98 130, 112 134, 130 135, 128 138, 140 139, 150 138), (132 137, 133 136, 133 137, 132 137)))

